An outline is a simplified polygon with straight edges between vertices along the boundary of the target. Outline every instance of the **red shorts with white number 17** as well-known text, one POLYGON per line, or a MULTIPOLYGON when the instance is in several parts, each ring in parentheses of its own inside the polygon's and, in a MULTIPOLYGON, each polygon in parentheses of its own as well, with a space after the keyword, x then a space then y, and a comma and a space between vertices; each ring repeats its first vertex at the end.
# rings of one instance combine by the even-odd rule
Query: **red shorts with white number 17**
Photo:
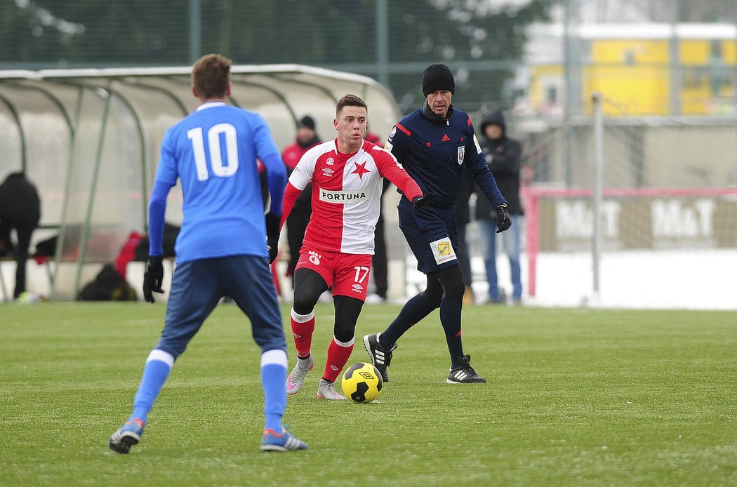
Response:
POLYGON ((320 274, 327 287, 332 286, 332 295, 366 301, 371 254, 330 252, 302 245, 294 268, 302 267, 320 274))

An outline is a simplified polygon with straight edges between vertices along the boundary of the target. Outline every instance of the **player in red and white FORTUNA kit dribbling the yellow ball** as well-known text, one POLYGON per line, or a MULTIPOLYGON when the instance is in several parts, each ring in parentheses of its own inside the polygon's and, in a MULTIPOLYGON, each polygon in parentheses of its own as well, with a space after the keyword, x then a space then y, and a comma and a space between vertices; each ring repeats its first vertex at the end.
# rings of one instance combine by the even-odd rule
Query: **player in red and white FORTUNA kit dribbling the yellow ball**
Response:
POLYGON ((314 308, 320 295, 332 287, 334 336, 317 396, 346 399, 335 391, 334 383, 353 351, 356 322, 366 301, 383 178, 394 183, 417 208, 435 197, 422 195, 394 155, 363 139, 367 122, 368 108, 362 99, 347 94, 338 100, 333 121, 338 137, 308 150, 284 191, 282 225, 296 197, 312 183, 312 217, 294 273, 291 323, 298 360, 287 377, 289 394, 301 389, 312 370, 314 308))

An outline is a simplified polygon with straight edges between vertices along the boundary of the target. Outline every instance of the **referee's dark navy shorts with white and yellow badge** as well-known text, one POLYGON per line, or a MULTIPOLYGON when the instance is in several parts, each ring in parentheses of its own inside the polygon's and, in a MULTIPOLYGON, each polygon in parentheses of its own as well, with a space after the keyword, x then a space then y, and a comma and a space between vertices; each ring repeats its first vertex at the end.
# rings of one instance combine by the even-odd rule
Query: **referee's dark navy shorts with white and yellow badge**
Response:
POLYGON ((403 197, 397 209, 399 228, 417 259, 417 270, 427 274, 458 264, 455 206, 446 209, 425 206, 416 211, 403 197))

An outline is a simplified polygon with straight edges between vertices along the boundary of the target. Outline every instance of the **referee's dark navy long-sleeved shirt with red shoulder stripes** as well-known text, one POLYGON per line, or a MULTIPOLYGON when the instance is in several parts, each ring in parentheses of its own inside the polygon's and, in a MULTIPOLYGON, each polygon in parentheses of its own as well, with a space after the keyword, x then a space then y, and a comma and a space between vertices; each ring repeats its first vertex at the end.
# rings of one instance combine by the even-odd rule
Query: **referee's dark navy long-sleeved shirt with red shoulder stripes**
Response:
POLYGON ((467 113, 453 108, 450 119, 435 123, 426 119, 420 108, 392 127, 385 148, 394 154, 423 193, 436 193, 433 206, 445 208, 458 202, 463 165, 495 207, 506 203, 467 113))

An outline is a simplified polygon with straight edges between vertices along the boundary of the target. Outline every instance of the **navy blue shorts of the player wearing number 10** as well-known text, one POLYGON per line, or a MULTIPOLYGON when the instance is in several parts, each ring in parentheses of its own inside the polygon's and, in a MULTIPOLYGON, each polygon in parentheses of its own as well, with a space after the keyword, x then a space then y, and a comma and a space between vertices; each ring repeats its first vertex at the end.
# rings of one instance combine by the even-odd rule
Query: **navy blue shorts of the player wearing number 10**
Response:
POLYGON ((167 318, 154 348, 178 357, 220 298, 230 296, 251 320, 261 351, 287 350, 282 310, 268 262, 260 256, 228 256, 178 264, 167 318))

